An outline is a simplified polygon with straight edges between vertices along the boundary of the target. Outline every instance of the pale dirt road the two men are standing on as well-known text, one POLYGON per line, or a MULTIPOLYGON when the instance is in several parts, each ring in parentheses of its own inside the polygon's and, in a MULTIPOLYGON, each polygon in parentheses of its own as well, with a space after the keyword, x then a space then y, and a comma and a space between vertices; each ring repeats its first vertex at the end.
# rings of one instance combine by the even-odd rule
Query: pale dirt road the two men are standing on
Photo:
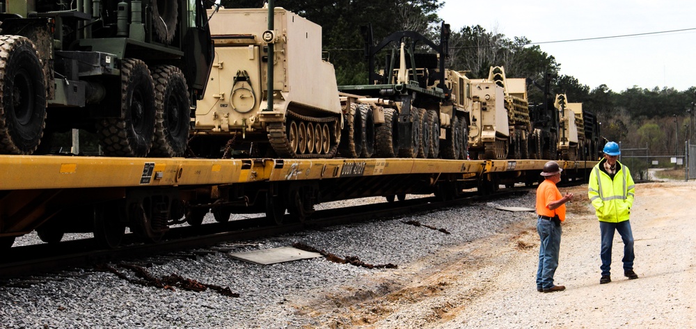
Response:
POLYGON ((631 214, 635 272, 623 276, 623 244, 615 235, 612 282, 599 284, 599 224, 587 186, 572 191, 563 224, 555 283, 535 286, 536 220, 503 234, 442 250, 433 261, 409 264, 296 305, 328 328, 696 328, 696 182, 638 184, 631 214))

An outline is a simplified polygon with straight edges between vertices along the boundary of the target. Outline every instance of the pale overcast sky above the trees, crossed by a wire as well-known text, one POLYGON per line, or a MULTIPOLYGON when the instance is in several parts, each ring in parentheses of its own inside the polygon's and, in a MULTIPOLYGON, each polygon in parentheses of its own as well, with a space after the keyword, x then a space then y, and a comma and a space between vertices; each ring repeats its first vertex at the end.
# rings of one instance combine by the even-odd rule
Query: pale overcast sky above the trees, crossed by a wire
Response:
MULTIPOLYGON (((438 15, 452 31, 480 25, 507 38, 548 42, 696 28, 696 1, 447 0, 438 15), (493 9, 495 8, 495 9, 493 9)), ((696 86, 696 30, 539 45, 561 74, 620 92, 696 86)))

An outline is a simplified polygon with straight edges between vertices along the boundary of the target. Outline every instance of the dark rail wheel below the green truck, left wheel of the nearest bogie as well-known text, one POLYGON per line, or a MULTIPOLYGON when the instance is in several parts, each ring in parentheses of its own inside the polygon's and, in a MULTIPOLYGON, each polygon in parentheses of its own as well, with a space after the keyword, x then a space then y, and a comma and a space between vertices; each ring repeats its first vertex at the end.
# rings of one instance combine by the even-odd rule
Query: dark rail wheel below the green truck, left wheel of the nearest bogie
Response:
POLYGON ((100 248, 113 249, 123 240, 126 226, 121 222, 118 209, 109 204, 94 207, 94 239, 100 248))

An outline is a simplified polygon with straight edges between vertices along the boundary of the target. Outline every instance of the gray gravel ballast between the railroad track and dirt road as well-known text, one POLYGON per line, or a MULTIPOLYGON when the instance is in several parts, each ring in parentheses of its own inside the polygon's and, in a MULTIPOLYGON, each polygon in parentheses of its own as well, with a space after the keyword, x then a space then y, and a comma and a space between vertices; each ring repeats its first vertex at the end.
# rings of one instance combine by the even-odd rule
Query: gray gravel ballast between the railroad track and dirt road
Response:
MULTIPOLYGON (((375 200, 378 199, 369 202, 375 200)), ((383 198, 379 202, 381 200, 383 198)), ((353 200, 342 204, 365 202, 353 200)), ((322 317, 305 314, 297 305, 321 300, 346 287, 363 291, 365 296, 388 292, 400 284, 401 275, 407 273, 411 262, 425 257, 432 258, 436 264, 438 250, 496 234, 512 223, 534 220, 531 212, 500 211, 495 209, 496 205, 533 207, 533 204, 534 194, 530 193, 509 200, 404 218, 239 241, 240 247, 233 250, 241 252, 303 243, 338 257, 356 256, 368 264, 395 264, 400 268, 398 271, 338 264, 323 257, 262 266, 239 261, 227 252, 204 255, 200 259, 173 259, 164 264, 155 262, 146 267, 157 278, 176 274, 205 284, 229 287, 239 294, 236 298, 212 289, 196 292, 145 287, 108 271, 93 269, 74 270, 84 273, 31 287, 0 286, 0 328, 319 327, 323 326, 322 317), (409 220, 445 229, 450 234, 404 223, 409 220), (377 275, 388 278, 390 273, 400 273, 398 278, 390 279, 392 285, 375 287, 361 283, 377 275)), ((35 242, 28 235, 17 243, 35 242)), ((113 267, 135 278, 127 268, 113 267)), ((360 298, 359 294, 356 298, 360 298)))

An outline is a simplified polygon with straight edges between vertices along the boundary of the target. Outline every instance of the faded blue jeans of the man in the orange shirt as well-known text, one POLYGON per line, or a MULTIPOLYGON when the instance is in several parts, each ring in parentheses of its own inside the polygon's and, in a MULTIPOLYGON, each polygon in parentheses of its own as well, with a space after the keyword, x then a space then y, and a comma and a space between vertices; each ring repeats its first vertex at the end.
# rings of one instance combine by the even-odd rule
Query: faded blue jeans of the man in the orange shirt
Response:
POLYGON ((558 252, 561 246, 561 226, 553 221, 537 219, 539 233, 539 269, 537 269, 537 289, 553 288, 553 273, 558 267, 558 252))

